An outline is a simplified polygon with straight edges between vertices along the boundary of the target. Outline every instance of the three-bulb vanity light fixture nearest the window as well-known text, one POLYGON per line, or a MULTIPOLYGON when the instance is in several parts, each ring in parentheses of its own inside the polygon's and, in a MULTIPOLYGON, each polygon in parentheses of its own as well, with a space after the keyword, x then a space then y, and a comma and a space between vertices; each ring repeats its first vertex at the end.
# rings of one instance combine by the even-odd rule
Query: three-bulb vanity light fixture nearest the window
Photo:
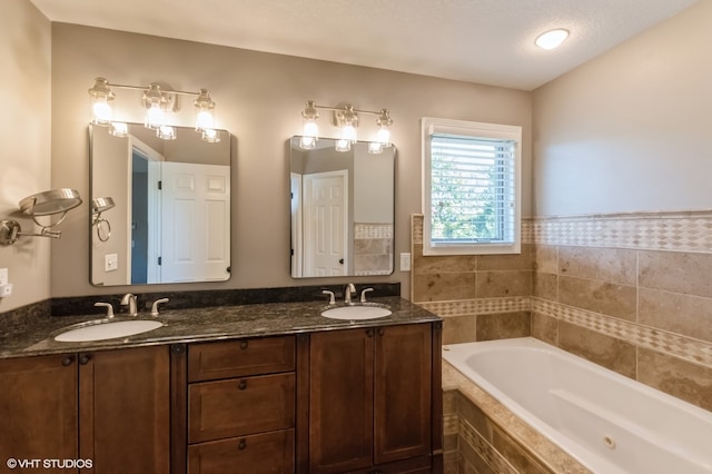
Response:
POLYGON ((315 148, 319 139, 319 127, 317 125, 319 118, 318 109, 330 110, 334 115, 334 124, 340 129, 340 137, 336 140, 337 151, 348 151, 352 149, 352 144, 356 142, 358 113, 377 117, 376 126, 378 127, 378 132, 376 139, 368 144, 368 152, 380 154, 385 147, 390 146, 390 130, 388 127, 393 125, 393 119, 390 118, 388 109, 380 109, 379 111, 358 110, 349 105, 343 107, 325 107, 317 106, 314 100, 308 100, 301 111, 304 134, 301 135, 299 146, 303 149, 310 150, 315 148))

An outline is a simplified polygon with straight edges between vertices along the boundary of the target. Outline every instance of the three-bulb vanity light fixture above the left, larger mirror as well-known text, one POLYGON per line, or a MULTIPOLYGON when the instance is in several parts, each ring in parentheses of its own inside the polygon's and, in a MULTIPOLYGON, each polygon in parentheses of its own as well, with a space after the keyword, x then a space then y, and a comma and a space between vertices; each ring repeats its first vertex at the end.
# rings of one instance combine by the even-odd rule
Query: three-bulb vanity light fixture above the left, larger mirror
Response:
POLYGON ((164 90, 158 82, 151 82, 148 86, 127 86, 111 83, 106 78, 96 78, 93 87, 88 91, 91 98, 91 124, 109 127, 109 132, 116 137, 126 137, 128 126, 126 122, 113 120, 111 102, 116 99, 116 95, 112 89, 144 91, 142 100, 146 108, 144 125, 146 128, 156 130, 156 136, 164 140, 177 138, 176 128, 166 122, 166 112, 178 110, 178 96, 196 96, 192 101, 196 108, 196 131, 201 134, 205 141, 220 141, 219 134, 215 129, 215 101, 210 98, 208 89, 186 92, 164 90))

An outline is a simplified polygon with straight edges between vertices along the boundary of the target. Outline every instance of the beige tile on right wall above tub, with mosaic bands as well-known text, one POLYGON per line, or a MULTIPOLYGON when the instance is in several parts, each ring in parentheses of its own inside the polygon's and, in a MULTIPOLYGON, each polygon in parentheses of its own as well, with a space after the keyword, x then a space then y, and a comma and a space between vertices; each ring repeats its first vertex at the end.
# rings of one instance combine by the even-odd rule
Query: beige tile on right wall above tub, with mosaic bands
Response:
POLYGON ((533 336, 712 411, 712 213, 526 227, 533 336))

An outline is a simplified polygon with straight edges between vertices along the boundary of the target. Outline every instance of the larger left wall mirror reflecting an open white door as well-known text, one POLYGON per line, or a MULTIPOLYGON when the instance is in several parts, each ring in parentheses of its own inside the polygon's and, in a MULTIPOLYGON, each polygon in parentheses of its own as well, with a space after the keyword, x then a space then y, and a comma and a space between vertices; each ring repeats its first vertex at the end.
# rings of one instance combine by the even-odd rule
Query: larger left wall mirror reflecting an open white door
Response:
POLYGON ((190 127, 165 140, 142 124, 89 126, 91 284, 230 277, 230 142, 190 127))

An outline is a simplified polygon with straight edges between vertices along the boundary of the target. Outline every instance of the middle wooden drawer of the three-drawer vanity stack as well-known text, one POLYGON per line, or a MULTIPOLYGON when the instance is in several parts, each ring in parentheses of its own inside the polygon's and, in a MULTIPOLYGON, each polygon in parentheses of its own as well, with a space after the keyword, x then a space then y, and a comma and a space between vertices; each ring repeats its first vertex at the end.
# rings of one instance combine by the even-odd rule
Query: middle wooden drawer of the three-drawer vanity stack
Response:
POLYGON ((294 374, 190 384, 188 442, 291 428, 294 414, 294 374))

